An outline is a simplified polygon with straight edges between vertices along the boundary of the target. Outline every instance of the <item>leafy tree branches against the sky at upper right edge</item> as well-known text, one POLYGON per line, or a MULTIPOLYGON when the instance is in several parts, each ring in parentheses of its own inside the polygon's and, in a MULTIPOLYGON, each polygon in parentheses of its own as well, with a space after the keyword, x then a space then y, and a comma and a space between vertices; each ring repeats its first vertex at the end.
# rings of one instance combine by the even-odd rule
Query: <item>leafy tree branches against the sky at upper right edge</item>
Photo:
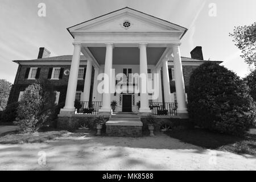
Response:
POLYGON ((250 26, 238 26, 234 28, 232 36, 235 45, 241 49, 241 57, 249 65, 256 65, 256 22, 250 26))

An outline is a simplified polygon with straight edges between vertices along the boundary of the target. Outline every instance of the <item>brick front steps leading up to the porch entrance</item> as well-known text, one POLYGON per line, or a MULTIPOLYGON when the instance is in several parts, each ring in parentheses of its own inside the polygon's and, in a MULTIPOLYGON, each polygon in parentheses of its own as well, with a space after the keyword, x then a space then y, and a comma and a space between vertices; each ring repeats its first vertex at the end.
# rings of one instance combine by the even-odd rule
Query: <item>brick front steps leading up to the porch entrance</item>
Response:
POLYGON ((116 137, 141 137, 141 118, 136 113, 113 113, 106 122, 106 134, 116 137))

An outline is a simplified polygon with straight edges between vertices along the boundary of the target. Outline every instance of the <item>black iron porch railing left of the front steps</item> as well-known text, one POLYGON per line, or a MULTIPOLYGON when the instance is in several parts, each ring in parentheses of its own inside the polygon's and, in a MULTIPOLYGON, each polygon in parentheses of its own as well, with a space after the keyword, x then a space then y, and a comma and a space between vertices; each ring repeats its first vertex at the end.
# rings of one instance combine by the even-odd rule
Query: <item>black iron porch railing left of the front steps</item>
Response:
POLYGON ((76 106, 76 114, 98 114, 101 106, 101 101, 80 101, 80 105, 76 106))

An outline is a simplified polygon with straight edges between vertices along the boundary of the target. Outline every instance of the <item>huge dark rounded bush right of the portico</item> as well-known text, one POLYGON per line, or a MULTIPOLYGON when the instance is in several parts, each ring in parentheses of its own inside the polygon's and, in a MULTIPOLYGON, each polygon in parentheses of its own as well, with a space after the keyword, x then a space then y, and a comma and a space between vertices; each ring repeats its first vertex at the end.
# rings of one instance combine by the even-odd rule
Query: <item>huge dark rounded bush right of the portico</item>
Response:
POLYGON ((241 135, 255 121, 255 105, 245 81, 215 63, 193 71, 188 92, 189 117, 197 126, 241 135))

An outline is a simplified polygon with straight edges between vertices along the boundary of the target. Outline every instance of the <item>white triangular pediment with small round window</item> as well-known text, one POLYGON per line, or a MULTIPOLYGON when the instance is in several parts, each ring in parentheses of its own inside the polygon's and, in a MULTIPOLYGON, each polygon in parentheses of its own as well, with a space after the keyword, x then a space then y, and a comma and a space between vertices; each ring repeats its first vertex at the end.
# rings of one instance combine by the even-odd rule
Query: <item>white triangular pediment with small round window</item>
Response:
POLYGON ((174 23, 167 22, 166 20, 162 20, 126 7, 124 9, 77 24, 76 26, 69 27, 68 30, 71 32, 71 34, 72 32, 78 31, 177 31, 182 34, 187 29, 174 23), (123 26, 123 23, 126 21, 130 23, 129 27, 123 26))

